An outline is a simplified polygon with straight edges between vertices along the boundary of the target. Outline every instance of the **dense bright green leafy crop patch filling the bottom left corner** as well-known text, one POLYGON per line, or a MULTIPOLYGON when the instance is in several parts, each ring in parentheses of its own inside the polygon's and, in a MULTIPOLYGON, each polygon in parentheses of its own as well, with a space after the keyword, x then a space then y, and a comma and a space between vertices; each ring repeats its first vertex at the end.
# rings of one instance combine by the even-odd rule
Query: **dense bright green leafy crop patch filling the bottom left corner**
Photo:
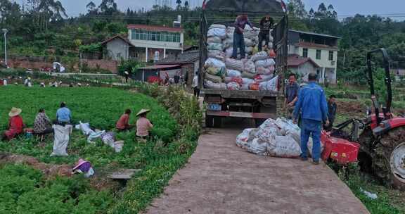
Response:
POLYGON ((0 213, 101 213, 113 203, 82 177, 45 180, 25 165, 0 166, 0 213))

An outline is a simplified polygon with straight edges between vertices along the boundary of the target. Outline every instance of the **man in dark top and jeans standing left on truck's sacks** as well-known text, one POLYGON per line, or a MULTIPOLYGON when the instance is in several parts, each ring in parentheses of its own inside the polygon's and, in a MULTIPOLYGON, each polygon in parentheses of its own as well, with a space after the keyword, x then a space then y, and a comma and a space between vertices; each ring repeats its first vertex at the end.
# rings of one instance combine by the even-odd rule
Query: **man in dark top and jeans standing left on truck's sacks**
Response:
POLYGON ((235 32, 233 32, 233 53, 231 58, 238 58, 238 48, 240 49, 240 58, 245 58, 245 38, 243 37, 243 32, 246 25, 253 28, 248 15, 238 15, 235 20, 235 32))

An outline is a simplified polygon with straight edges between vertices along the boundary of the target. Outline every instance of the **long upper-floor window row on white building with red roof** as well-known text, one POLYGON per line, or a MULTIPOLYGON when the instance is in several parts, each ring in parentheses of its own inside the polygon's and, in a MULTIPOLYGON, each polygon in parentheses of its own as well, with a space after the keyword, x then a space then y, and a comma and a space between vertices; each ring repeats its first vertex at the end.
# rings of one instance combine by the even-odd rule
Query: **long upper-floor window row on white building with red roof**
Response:
POLYGON ((180 42, 180 33, 132 30, 131 39, 132 40, 158 41, 158 42, 180 42))

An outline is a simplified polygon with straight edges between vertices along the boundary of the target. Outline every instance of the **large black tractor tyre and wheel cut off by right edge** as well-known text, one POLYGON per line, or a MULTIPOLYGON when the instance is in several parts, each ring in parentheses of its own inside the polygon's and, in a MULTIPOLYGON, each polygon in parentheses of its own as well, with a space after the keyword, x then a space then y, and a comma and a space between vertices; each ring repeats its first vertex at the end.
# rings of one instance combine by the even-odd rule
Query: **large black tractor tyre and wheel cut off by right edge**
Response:
POLYGON ((405 127, 384 134, 375 149, 373 171, 381 180, 405 190, 405 127))

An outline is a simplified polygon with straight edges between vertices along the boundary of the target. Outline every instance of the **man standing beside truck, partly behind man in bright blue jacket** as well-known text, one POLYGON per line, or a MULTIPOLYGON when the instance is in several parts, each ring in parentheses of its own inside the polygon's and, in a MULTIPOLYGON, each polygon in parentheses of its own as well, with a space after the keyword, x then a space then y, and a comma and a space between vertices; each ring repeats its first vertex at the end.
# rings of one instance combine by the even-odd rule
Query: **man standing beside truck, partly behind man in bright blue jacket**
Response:
POLYGON ((295 75, 295 73, 290 73, 290 75, 288 75, 288 84, 285 86, 284 99, 284 109, 287 111, 289 118, 293 118, 293 111, 299 93, 300 86, 297 84, 297 75, 295 75))

